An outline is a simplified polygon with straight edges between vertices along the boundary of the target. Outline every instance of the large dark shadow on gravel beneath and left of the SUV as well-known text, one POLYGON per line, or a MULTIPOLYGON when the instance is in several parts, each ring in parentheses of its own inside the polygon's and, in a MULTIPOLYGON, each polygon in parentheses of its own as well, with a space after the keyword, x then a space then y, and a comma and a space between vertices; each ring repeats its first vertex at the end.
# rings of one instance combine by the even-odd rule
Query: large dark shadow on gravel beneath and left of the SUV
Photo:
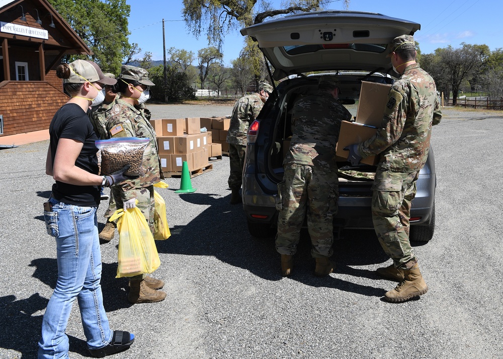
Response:
MULTIPOLYGON (((186 226, 171 228, 172 236, 166 241, 156 241, 160 253, 186 255, 212 255, 223 262, 243 268, 270 281, 282 279, 280 255, 276 252, 274 238, 251 237, 246 227, 246 217, 240 205, 228 204, 229 196, 213 194, 182 194, 189 203, 210 206, 186 226)), ((169 209, 168 209, 169 213, 169 209)), ((170 222, 168 214, 168 223, 170 222)), ((343 238, 334 241, 332 259, 337 262, 340 274, 378 279, 368 270, 350 265, 382 263, 388 257, 382 250, 373 230, 345 230, 343 238)), ((318 279, 313 276, 314 259, 307 231, 303 231, 295 255, 295 273, 292 279, 313 287, 329 287, 367 296, 382 296, 380 288, 361 286, 337 278, 318 279)))

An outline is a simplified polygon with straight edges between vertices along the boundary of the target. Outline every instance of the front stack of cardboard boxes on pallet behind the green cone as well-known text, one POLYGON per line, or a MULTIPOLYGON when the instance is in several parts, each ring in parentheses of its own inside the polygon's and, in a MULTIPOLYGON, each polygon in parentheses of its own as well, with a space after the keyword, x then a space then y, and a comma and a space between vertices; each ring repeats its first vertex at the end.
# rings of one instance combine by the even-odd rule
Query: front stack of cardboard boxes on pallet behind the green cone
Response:
POLYGON ((212 143, 211 132, 201 132, 201 119, 150 120, 157 137, 157 150, 163 172, 182 172, 187 161, 189 171, 207 167, 209 158, 222 154, 218 144, 212 143))

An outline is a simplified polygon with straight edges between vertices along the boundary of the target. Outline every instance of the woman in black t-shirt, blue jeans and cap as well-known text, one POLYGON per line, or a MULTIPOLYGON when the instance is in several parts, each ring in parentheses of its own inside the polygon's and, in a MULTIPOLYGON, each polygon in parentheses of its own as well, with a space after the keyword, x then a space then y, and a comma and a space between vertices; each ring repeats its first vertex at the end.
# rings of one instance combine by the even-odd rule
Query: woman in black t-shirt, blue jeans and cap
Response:
POLYGON ((71 98, 49 127, 46 173, 55 184, 44 218, 49 234, 56 239, 58 279, 44 314, 38 357, 68 356, 65 329, 75 298, 89 351, 103 357, 128 349, 134 341, 133 334, 110 329, 103 307, 96 216, 99 186, 111 186, 126 177, 124 172, 98 175, 98 137, 87 115, 91 104, 103 98, 104 84, 113 85, 116 80, 105 77, 96 63, 87 60, 61 64, 56 74, 63 78, 71 98))

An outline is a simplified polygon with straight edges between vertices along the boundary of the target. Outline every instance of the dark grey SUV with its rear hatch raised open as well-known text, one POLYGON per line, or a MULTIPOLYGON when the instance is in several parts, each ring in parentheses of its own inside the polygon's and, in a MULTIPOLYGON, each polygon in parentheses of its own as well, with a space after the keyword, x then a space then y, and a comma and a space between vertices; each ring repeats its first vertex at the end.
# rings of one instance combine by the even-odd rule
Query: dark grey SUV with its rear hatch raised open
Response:
MULTIPOLYGON (((254 237, 276 233, 277 184, 283 179, 283 157, 291 136, 291 109, 304 95, 316 93, 318 79, 309 72, 337 76, 339 101, 353 115, 361 81, 393 83, 397 76, 386 57, 388 44, 421 25, 381 14, 322 11, 285 16, 241 29, 258 42, 280 81, 248 130, 242 199, 248 230, 254 237), (391 76, 390 76, 391 75, 391 76)), ((339 212, 334 228, 373 228, 371 199, 376 167, 338 162, 339 212)), ((410 239, 429 241, 435 230, 435 158, 433 150, 417 180, 412 201, 410 239)))

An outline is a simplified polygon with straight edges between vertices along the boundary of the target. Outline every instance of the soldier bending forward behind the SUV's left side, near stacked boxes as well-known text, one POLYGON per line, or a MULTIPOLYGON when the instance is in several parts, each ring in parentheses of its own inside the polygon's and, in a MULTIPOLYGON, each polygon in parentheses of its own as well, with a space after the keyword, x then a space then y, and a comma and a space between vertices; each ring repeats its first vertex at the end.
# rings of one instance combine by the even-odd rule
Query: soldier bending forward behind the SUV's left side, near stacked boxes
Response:
POLYGON ((227 142, 229 143, 230 176, 229 188, 232 191, 230 204, 242 203, 239 189, 242 184, 244 152, 246 150, 246 134, 250 124, 257 118, 262 106, 273 92, 273 86, 261 82, 257 92, 244 96, 236 101, 232 110, 227 142))

